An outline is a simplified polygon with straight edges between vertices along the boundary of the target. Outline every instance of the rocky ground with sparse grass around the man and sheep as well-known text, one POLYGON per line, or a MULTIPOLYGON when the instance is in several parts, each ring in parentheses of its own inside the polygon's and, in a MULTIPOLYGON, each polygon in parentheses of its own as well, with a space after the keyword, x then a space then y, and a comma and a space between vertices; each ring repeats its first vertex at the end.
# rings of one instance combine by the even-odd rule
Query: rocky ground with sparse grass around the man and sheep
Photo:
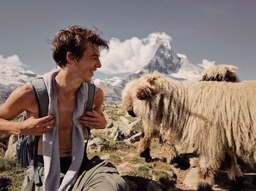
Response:
MULTIPOLYGON (((121 176, 127 180, 131 190, 195 190, 197 181, 198 158, 195 154, 186 154, 167 164, 155 160, 152 163, 138 156, 138 141, 143 136, 142 122, 129 117, 120 106, 105 106, 108 120, 104 130, 91 130, 88 144, 89 157, 98 155, 110 160, 121 176), (183 163, 180 163, 180 162, 183 163)), ((15 137, 0 136, 0 191, 19 190, 23 169, 15 162, 15 137)), ((181 148, 182 149, 182 148, 181 148)), ((151 156, 164 158, 164 150, 159 139, 152 140, 151 156)), ((256 190, 256 171, 241 163, 245 173, 244 188, 238 190, 256 190)), ((214 190, 230 190, 230 182, 225 171, 216 174, 214 190)))

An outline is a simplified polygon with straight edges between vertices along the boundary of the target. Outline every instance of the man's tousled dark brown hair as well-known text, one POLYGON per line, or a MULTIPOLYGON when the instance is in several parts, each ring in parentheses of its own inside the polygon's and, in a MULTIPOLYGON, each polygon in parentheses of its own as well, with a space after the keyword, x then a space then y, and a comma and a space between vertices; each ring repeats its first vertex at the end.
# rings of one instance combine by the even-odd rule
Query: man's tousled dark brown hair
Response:
POLYGON ((63 68, 67 63, 67 53, 70 52, 79 61, 88 43, 96 44, 108 50, 108 42, 102 39, 97 28, 69 26, 59 31, 52 41, 53 60, 63 68))

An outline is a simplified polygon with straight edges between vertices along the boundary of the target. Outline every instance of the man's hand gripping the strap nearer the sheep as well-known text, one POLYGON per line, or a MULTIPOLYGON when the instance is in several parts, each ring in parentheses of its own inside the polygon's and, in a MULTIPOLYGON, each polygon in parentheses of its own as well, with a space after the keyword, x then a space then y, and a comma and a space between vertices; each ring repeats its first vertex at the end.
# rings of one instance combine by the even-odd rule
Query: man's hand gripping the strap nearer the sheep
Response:
POLYGON ((105 117, 96 111, 85 112, 85 117, 79 117, 78 121, 87 128, 103 129, 106 127, 105 117))

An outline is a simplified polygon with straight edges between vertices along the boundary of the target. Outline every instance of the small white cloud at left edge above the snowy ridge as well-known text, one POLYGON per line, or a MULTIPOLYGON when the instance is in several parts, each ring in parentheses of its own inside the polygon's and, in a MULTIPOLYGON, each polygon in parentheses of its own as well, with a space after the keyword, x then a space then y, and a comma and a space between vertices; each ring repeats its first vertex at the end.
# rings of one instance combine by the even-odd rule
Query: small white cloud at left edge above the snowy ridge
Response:
POLYGON ((11 55, 7 58, 0 55, 0 67, 1 70, 12 69, 15 71, 24 71, 24 68, 27 66, 20 61, 18 55, 11 55))

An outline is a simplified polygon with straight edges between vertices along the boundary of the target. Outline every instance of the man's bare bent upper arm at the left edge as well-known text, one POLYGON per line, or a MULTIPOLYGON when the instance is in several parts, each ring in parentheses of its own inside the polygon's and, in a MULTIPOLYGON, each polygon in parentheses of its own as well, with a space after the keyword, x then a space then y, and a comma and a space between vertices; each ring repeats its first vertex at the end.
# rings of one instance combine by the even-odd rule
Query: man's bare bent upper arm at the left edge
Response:
POLYGON ((11 120, 24 110, 33 108, 35 101, 33 88, 29 84, 22 85, 15 89, 0 106, 0 117, 11 120))

